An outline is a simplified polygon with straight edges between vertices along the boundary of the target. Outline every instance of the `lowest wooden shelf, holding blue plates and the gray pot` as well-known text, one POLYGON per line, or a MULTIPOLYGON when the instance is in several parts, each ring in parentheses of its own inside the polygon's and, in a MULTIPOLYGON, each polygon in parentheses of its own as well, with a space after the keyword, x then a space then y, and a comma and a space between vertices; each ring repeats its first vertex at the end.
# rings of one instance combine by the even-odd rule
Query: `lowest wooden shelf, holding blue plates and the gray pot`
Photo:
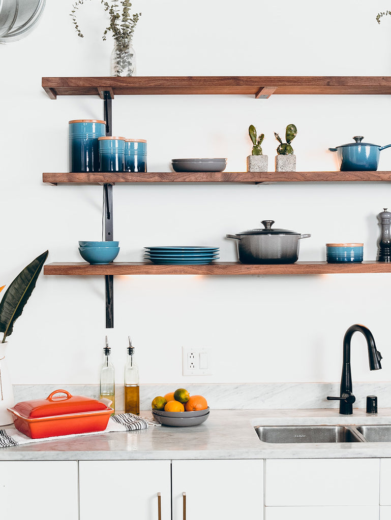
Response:
POLYGON ((391 272, 391 263, 327 264, 296 262, 295 264, 242 264, 215 262, 208 265, 155 265, 149 262, 113 262, 106 265, 52 263, 44 266, 44 275, 333 275, 391 272))

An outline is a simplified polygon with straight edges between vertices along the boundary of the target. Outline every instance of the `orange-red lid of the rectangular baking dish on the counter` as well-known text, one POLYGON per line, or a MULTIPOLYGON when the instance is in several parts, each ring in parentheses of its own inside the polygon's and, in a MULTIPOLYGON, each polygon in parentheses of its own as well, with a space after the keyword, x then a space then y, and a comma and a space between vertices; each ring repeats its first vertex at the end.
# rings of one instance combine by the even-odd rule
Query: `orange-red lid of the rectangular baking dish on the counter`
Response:
POLYGON ((28 419, 53 417, 53 415, 65 415, 69 413, 93 412, 107 410, 107 408, 102 401, 82 395, 71 395, 66 390, 55 390, 47 396, 46 399, 21 401, 14 406, 14 409, 20 415, 28 419), (54 395, 58 393, 66 395, 54 397, 54 395))

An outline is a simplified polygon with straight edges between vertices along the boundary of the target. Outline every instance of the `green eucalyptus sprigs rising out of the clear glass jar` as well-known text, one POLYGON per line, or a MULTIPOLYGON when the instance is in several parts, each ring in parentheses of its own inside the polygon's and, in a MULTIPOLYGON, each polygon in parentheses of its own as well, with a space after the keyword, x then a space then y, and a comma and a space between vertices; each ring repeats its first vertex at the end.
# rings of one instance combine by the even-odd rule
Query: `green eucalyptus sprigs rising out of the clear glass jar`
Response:
MULTIPOLYGON (((74 28, 78 36, 81 38, 84 38, 84 34, 80 30, 76 14, 77 10, 84 4, 84 2, 85 0, 77 0, 73 4, 70 14, 74 28)), ((141 12, 134 15, 130 14, 130 9, 132 7, 130 0, 112 0, 111 4, 105 2, 105 0, 100 0, 100 3, 103 5, 105 11, 108 12, 110 19, 110 24, 106 27, 102 39, 106 40, 107 34, 111 32, 112 37, 116 41, 130 40, 133 36, 138 18, 141 16, 141 12)))

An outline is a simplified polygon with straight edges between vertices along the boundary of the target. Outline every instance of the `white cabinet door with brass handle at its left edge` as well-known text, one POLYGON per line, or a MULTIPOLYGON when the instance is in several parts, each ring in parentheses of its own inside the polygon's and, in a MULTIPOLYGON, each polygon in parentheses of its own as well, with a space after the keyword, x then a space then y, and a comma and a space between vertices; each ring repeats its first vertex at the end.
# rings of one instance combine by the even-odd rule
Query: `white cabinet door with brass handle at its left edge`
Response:
POLYGON ((172 519, 184 518, 261 520, 263 461, 172 461, 172 519))

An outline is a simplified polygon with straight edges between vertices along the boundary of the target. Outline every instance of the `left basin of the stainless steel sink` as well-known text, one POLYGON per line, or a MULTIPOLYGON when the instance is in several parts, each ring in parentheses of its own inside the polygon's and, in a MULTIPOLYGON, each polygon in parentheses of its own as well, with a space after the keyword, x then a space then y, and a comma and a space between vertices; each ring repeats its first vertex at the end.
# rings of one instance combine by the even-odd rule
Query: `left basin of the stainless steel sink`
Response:
MULTIPOLYGON (((254 426, 263 443, 362 443, 365 438, 354 426, 254 426)), ((391 426, 389 429, 391 435, 391 426)), ((391 437, 390 437, 391 438, 391 437)))

